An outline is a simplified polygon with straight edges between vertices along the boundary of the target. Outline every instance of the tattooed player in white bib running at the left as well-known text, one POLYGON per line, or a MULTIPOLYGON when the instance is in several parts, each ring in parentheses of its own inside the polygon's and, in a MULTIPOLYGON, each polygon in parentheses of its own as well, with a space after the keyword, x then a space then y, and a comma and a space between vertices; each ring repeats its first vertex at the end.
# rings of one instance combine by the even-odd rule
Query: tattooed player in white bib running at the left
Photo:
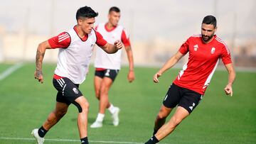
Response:
POLYGON ((67 32, 40 43, 36 52, 35 78, 43 83, 42 62, 46 49, 59 48, 58 64, 53 75, 53 86, 57 89, 55 109, 48 115, 41 128, 32 131, 38 144, 44 136, 74 104, 78 108, 78 130, 82 144, 87 144, 87 113, 89 103, 79 90, 79 84, 85 80, 92 50, 95 43, 108 53, 117 52, 124 45, 116 40, 114 45, 107 43, 102 35, 93 29, 98 15, 90 7, 84 6, 76 13, 77 25, 67 32))

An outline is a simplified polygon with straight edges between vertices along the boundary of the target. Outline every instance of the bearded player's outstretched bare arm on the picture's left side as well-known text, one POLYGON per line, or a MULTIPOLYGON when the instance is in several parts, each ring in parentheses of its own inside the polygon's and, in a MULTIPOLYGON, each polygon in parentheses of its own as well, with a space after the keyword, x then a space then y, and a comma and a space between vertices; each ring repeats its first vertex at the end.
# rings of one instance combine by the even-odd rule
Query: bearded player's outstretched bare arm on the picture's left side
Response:
POLYGON ((183 54, 181 52, 176 52, 175 55, 173 55, 165 64, 163 67, 161 67, 161 69, 156 72, 156 74, 154 74, 154 82, 159 82, 159 77, 161 76, 161 74, 163 74, 166 70, 169 70, 169 68, 174 67, 174 65, 178 62, 178 60, 181 60, 181 57, 183 57, 183 54))

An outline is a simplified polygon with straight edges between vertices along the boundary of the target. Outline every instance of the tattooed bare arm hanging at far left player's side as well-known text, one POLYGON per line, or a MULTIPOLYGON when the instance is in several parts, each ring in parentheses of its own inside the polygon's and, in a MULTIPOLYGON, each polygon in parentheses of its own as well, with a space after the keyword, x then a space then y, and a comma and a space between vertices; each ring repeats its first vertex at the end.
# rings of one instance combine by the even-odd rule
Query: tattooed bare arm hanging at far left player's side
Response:
POLYGON ((40 43, 36 50, 36 72, 34 73, 35 79, 38 79, 38 82, 43 83, 43 72, 42 72, 42 64, 43 64, 43 57, 46 52, 46 49, 50 49, 50 45, 48 40, 40 43))

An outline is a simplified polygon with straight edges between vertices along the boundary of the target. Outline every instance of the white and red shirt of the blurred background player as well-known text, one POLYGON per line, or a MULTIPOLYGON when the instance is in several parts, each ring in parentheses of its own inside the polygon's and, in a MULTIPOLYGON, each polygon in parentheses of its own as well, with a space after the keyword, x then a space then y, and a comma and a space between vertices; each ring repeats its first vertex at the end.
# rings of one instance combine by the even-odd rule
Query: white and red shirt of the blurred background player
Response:
MULTIPOLYGON (((106 23, 100 23, 95 28, 102 34, 103 38, 107 40, 107 43, 114 44, 116 40, 121 40, 124 46, 130 46, 129 37, 127 32, 122 26, 116 26, 112 29, 107 29, 106 23)), ((120 70, 121 68, 121 55, 122 50, 118 50, 113 54, 108 54, 101 48, 96 49, 95 67, 96 70, 100 69, 112 69, 120 70)))

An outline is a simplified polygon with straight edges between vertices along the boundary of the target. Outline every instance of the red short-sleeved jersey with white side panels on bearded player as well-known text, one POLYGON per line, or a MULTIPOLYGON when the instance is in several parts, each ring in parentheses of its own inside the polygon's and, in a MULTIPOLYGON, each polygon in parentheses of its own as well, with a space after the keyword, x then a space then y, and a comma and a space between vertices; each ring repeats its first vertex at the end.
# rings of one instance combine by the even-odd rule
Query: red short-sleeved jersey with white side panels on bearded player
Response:
POLYGON ((203 43, 202 35, 192 35, 179 49, 188 55, 188 62, 178 73, 174 84, 204 94, 221 59, 224 65, 232 63, 228 46, 214 35, 210 43, 203 43))

